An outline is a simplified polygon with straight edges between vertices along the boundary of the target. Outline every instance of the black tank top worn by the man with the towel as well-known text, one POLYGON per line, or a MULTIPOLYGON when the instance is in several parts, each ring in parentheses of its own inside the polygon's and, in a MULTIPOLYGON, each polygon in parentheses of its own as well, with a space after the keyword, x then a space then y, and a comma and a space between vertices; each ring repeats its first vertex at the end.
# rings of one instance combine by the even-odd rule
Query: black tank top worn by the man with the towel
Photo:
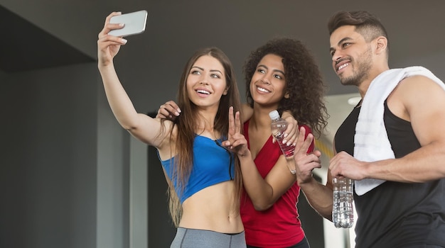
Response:
MULTIPOLYGON (((353 154, 359 112, 360 108, 354 108, 338 128, 334 137, 337 152, 353 154)), ((396 158, 420 147, 411 123, 394 115, 386 101, 383 118, 396 158)), ((363 196, 354 193, 354 201, 356 247, 445 247, 445 179, 424 184, 386 181, 363 196)))

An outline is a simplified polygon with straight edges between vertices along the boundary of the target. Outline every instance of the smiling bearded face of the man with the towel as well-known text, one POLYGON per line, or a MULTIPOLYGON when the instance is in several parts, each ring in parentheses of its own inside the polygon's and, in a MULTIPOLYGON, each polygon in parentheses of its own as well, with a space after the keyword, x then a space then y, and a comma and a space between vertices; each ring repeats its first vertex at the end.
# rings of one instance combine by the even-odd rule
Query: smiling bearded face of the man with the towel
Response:
POLYGON ((355 32, 355 26, 341 26, 331 34, 332 66, 343 85, 360 84, 368 79, 373 56, 370 43, 355 32))

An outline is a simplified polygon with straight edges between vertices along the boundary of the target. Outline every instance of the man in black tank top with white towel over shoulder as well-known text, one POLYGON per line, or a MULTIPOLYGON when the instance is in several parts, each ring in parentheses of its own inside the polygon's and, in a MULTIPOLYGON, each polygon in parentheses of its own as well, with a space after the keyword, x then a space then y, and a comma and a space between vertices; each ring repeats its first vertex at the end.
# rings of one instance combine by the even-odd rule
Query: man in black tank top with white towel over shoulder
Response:
POLYGON ((444 83, 423 67, 390 69, 386 30, 366 11, 338 12, 328 29, 333 69, 363 104, 338 128, 326 186, 295 157, 301 189, 331 220, 333 177, 355 180, 358 248, 445 247, 444 83))

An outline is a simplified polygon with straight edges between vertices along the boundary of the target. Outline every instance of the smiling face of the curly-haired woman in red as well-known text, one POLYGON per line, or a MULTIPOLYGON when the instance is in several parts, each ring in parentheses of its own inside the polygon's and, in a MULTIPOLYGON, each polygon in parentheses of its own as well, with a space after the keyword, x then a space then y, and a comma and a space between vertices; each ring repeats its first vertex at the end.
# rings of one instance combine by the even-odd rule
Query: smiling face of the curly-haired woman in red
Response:
POLYGON ((250 81, 254 103, 278 107, 285 96, 286 77, 282 57, 269 54, 262 57, 250 81))

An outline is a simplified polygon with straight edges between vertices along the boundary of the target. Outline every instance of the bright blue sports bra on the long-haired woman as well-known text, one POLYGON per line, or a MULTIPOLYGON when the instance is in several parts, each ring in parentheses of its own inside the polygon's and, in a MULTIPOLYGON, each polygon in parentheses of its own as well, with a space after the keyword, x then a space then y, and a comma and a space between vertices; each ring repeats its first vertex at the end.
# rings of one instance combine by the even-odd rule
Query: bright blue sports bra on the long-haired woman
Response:
POLYGON ((221 139, 211 140, 208 137, 195 135, 195 140, 193 140, 193 168, 182 192, 176 179, 172 179, 173 170, 176 169, 176 167, 172 167, 172 164, 175 163, 175 157, 167 160, 159 158, 168 178, 173 181, 173 186, 178 193, 181 204, 203 188, 233 179, 235 175, 234 154, 220 144, 221 139))

